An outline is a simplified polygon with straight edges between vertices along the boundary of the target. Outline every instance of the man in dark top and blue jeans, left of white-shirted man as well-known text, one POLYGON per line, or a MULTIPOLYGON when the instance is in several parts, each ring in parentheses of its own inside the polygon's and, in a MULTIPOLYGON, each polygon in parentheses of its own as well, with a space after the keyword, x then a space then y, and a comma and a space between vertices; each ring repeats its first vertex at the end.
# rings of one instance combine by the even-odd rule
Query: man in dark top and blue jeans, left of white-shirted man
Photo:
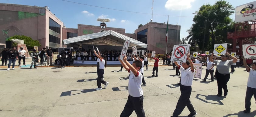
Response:
POLYGON ((12 47, 11 50, 9 50, 9 64, 8 64, 8 69, 7 70, 10 70, 10 67, 11 67, 11 63, 12 63, 12 70, 15 70, 14 67, 15 67, 15 62, 16 60, 18 59, 18 51, 16 50, 16 47, 12 47))

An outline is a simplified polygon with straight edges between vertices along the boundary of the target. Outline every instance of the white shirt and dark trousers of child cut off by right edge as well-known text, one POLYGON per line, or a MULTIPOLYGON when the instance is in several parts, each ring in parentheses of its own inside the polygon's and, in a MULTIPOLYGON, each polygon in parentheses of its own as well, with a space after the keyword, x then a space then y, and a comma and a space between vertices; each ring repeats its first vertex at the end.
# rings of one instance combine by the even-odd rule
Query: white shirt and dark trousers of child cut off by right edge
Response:
POLYGON ((256 99, 256 71, 250 68, 247 72, 249 73, 249 77, 245 94, 245 109, 250 112, 252 95, 254 95, 254 98, 256 99))

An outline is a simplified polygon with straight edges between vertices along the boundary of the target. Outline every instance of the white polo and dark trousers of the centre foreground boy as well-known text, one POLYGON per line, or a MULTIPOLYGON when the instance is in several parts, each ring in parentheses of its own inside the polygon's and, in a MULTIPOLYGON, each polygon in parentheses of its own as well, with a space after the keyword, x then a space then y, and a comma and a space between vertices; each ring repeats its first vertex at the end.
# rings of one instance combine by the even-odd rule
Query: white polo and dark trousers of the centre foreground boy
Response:
POLYGON ((133 110, 138 117, 145 117, 143 109, 143 90, 140 86, 143 76, 139 71, 137 71, 136 75, 134 75, 131 70, 128 70, 128 72, 130 73, 128 83, 129 96, 120 117, 129 117, 133 110))

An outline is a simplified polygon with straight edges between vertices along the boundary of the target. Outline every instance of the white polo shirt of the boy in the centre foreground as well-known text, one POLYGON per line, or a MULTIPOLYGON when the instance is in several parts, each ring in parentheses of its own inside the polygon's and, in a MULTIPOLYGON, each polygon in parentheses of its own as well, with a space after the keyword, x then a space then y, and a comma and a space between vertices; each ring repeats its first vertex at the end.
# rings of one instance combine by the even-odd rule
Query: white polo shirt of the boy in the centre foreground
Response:
POLYGON ((141 88, 142 83, 142 74, 137 71, 137 74, 134 75, 133 72, 129 69, 128 72, 131 74, 129 77, 128 83, 128 92, 130 96, 140 97, 143 95, 143 90, 141 88))

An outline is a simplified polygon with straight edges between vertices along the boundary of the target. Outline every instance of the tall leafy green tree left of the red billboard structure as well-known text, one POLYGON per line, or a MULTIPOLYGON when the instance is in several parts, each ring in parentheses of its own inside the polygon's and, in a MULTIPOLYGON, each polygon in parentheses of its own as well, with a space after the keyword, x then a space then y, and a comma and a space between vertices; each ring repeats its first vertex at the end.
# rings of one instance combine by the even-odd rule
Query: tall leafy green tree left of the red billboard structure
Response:
POLYGON ((232 28, 232 19, 229 18, 234 13, 232 5, 221 0, 214 5, 202 5, 196 13, 193 18, 195 23, 188 30, 189 41, 196 41, 202 49, 205 33, 205 50, 212 50, 214 44, 227 41, 227 31, 232 28))

